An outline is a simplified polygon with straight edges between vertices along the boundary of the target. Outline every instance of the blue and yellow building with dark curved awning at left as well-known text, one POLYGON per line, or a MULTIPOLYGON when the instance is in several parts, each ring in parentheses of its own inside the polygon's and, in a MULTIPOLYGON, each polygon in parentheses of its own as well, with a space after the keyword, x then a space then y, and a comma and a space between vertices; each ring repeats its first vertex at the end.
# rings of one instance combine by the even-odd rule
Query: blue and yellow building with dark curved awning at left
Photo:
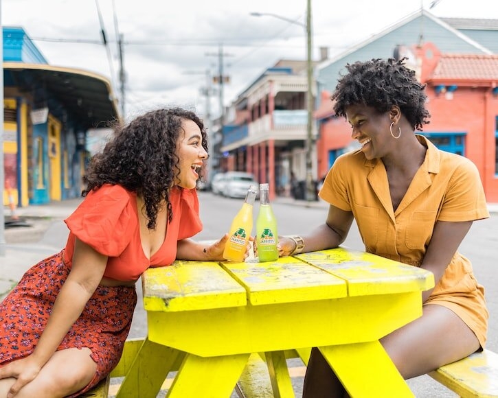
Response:
POLYGON ((87 131, 119 119, 109 80, 49 65, 21 27, 3 27, 3 204, 80 196, 87 131))

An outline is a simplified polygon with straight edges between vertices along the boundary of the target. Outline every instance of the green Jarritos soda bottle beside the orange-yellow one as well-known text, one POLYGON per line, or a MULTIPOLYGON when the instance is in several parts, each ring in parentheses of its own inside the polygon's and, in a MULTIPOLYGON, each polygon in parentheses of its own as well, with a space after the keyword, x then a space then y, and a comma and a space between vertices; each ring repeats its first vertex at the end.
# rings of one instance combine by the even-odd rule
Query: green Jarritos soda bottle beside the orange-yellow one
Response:
POLYGON ((270 206, 268 184, 260 184, 260 212, 256 220, 256 244, 261 262, 277 261, 277 220, 270 206))

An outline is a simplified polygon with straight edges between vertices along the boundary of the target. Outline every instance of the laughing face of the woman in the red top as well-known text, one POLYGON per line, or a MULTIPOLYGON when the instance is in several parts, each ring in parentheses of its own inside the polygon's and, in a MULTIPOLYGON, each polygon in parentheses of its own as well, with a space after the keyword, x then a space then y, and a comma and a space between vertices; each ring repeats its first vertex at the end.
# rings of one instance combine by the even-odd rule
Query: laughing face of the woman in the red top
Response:
POLYGON ((180 172, 175 178, 175 184, 182 188, 193 189, 199 179, 199 169, 207 159, 207 152, 202 145, 201 129, 192 120, 183 120, 183 133, 177 142, 180 172))

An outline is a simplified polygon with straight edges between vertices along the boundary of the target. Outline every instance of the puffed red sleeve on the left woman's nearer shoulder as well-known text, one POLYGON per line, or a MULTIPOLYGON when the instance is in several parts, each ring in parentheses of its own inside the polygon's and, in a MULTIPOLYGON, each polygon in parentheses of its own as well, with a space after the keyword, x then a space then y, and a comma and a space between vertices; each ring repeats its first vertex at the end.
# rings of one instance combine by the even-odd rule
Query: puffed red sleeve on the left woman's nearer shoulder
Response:
POLYGON ((103 185, 90 191, 66 219, 71 233, 102 255, 119 256, 137 228, 133 194, 120 185, 103 185))

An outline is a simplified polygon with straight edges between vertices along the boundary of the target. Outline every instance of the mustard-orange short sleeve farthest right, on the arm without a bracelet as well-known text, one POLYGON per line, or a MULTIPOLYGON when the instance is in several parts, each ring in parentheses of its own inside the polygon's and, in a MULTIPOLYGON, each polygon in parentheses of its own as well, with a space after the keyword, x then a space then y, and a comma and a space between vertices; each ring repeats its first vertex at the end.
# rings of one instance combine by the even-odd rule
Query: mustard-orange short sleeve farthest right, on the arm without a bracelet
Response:
POLYGON ((438 220, 457 222, 488 218, 479 170, 470 160, 463 157, 459 160, 446 189, 438 220))

